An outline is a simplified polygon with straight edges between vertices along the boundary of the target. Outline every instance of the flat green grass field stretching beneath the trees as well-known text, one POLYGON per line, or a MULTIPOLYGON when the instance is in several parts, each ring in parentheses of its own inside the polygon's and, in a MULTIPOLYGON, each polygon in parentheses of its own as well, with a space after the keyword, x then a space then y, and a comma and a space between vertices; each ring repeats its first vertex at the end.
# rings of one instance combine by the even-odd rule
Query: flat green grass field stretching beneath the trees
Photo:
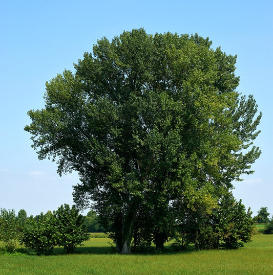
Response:
POLYGON ((92 238, 73 255, 0 255, 0 274, 273 274, 273 235, 237 250, 119 255, 108 238, 92 238))

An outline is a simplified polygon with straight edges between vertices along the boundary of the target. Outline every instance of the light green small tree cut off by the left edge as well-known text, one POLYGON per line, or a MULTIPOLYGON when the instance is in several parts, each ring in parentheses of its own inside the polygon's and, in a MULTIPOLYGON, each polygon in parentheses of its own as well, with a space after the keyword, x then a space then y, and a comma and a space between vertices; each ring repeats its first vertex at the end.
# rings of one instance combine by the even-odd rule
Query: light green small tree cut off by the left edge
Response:
POLYGON ((15 211, 0 210, 0 240, 4 242, 5 248, 13 252, 16 247, 16 240, 19 236, 19 221, 15 211))

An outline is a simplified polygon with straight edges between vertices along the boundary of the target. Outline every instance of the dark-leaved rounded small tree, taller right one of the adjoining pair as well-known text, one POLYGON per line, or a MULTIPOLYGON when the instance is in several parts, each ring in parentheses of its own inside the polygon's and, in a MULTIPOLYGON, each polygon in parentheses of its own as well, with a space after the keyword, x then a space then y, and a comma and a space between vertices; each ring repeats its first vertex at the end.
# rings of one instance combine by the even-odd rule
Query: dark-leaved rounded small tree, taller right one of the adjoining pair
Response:
POLYGON ((87 228, 84 225, 85 218, 73 205, 61 205, 53 211, 55 230, 57 233, 57 245, 63 245, 67 253, 73 253, 76 246, 89 240, 87 228))

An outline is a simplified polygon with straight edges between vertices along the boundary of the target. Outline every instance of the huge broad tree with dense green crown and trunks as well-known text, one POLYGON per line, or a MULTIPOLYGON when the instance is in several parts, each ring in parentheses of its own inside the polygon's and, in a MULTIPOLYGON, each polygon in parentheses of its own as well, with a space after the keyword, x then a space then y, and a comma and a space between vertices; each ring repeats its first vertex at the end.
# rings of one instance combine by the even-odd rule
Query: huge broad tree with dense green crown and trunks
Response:
POLYGON ((78 172, 74 201, 93 203, 122 253, 132 238, 162 249, 177 215, 209 215, 253 172, 261 113, 236 91, 236 56, 211 45, 144 29, 104 37, 75 73, 46 83, 44 109, 28 112, 39 159, 78 172))

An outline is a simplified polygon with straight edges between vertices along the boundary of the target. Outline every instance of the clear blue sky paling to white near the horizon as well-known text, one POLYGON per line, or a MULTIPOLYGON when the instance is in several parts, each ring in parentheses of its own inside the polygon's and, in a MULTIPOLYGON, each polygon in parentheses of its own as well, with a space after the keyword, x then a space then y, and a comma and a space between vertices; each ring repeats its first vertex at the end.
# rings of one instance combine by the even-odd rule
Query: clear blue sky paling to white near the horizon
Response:
POLYGON ((59 177, 56 164, 38 161, 30 147, 27 111, 44 106, 45 82, 73 70, 97 39, 143 27, 154 34, 198 33, 238 55, 238 91, 263 112, 255 141, 255 173, 236 182, 234 195, 254 214, 273 214, 273 2, 263 1, 12 1, 0 2, 0 208, 28 215, 73 204, 77 174, 59 177))

